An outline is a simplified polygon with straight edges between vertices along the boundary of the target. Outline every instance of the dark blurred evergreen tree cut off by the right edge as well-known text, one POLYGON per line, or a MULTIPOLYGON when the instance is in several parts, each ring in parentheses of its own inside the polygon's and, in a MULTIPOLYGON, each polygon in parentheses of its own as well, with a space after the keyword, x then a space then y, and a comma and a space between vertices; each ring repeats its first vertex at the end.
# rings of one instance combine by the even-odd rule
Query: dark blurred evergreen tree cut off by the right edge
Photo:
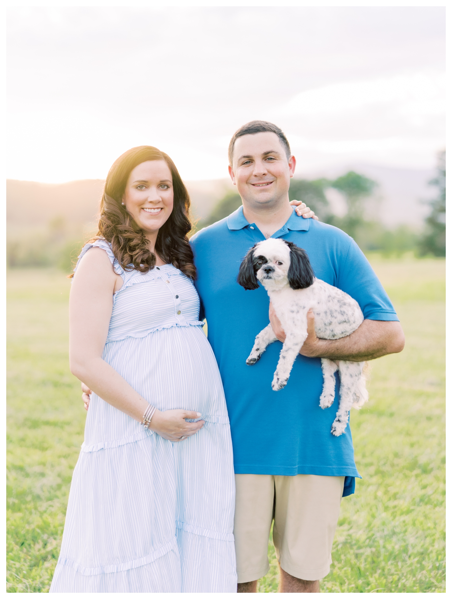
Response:
POLYGON ((429 204, 432 207, 430 215, 426 218, 426 231, 421 237, 418 248, 421 256, 446 255, 446 153, 445 150, 438 154, 438 174, 429 181, 430 185, 438 187, 438 197, 429 204))

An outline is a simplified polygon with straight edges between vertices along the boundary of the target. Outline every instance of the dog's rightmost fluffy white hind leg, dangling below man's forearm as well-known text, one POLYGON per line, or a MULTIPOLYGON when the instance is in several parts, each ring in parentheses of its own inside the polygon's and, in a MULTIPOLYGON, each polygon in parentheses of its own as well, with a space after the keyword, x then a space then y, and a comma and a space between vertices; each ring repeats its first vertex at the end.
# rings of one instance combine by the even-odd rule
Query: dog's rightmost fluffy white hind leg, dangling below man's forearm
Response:
POLYGON ((331 432, 335 437, 339 437, 345 431, 345 428, 347 428, 348 413, 351 407, 354 405, 359 407, 368 397, 366 388, 364 387, 364 395, 362 390, 362 383, 364 382, 361 381, 363 378, 363 364, 364 362, 349 362, 345 360, 340 360, 338 363, 339 376, 341 377, 341 389, 339 392, 341 398, 336 418, 331 427, 331 432))

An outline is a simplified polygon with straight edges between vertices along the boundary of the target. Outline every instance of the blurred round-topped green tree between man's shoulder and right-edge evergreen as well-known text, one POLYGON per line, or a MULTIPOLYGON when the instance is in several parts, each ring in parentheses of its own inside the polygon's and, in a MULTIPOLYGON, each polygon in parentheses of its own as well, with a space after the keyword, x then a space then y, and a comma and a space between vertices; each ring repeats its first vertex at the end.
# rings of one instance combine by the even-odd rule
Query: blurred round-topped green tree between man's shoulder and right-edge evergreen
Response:
POLYGON ((329 187, 341 192, 347 202, 347 214, 342 218, 337 216, 330 218, 330 224, 342 229, 350 237, 357 237, 359 229, 365 222, 364 200, 372 195, 377 187, 377 182, 354 171, 349 171, 334 181, 329 181, 329 187))

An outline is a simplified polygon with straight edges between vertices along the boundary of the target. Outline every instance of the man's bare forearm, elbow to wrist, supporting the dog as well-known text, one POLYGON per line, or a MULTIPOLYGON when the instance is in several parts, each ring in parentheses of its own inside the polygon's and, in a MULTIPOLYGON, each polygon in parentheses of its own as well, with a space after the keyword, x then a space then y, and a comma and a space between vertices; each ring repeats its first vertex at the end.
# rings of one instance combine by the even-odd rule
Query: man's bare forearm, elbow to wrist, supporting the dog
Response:
POLYGON ((318 339, 305 343, 300 353, 308 358, 330 358, 362 362, 398 353, 404 349, 405 336, 397 321, 364 320, 348 337, 318 339))

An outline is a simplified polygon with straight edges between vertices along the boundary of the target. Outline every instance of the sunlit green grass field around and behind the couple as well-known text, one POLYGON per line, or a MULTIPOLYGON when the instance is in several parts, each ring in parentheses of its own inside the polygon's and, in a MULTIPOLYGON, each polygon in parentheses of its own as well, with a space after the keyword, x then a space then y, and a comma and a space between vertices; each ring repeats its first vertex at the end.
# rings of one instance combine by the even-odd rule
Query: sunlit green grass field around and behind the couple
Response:
MULTIPOLYGON (((398 311, 404 352, 372 362, 353 411, 356 494, 342 501, 326 592, 445 591, 445 263, 371 258, 398 311)), ((68 368, 70 283, 8 273, 9 592, 47 592, 83 441, 80 384, 68 368)), ((260 592, 277 591, 277 562, 260 592)))

